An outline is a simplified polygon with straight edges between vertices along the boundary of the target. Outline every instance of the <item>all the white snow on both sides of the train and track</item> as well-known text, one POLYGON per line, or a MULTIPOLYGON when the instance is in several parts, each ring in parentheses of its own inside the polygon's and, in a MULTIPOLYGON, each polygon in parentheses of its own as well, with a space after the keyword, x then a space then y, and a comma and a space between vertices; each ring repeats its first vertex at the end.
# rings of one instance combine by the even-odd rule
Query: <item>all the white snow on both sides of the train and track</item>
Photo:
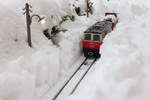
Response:
MULTIPOLYGON (((80 1, 82 9, 85 2, 80 1)), ((119 23, 101 47, 102 57, 77 91, 62 100, 149 100, 149 0, 92 0, 94 15, 78 17, 74 0, 0 0, 0 100, 40 100, 81 56, 83 31, 106 11, 117 12, 119 23), (26 42, 25 3, 46 17, 46 25, 33 19, 33 48, 26 42), (61 16, 75 15, 59 34, 59 47, 42 34, 61 16), (53 16, 53 19, 52 17, 53 16)))

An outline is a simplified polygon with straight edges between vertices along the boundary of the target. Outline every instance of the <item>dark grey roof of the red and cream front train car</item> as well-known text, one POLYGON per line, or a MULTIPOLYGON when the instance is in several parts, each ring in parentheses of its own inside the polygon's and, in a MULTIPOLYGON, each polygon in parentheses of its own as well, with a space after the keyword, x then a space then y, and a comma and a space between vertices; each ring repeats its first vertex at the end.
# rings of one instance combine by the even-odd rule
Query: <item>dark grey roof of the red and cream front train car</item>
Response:
POLYGON ((101 34, 102 32, 105 32, 110 27, 111 27, 111 22, 110 21, 99 21, 99 22, 96 22, 90 28, 88 28, 85 31, 85 33, 101 34))

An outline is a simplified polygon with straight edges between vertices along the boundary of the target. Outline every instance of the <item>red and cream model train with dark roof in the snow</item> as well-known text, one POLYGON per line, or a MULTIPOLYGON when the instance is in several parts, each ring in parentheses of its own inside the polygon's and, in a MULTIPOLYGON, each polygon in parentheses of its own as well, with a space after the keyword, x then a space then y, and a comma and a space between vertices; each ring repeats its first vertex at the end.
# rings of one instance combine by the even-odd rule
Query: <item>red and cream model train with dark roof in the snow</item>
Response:
POLYGON ((100 46, 103 44, 105 36, 112 32, 118 23, 117 13, 107 12, 102 21, 84 31, 81 41, 82 51, 86 58, 100 58, 100 46))

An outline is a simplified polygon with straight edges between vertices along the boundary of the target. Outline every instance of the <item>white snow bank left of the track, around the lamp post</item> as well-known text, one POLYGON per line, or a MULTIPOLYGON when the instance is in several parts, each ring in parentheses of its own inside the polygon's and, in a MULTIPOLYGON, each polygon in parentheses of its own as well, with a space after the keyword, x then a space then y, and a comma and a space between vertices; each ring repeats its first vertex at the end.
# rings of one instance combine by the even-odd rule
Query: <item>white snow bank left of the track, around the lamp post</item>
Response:
POLYGON ((70 10, 66 10, 61 0, 30 1, 33 12, 45 15, 49 23, 40 26, 33 19, 33 48, 29 48, 25 17, 22 15, 25 2, 0 2, 0 100, 39 98, 80 56, 79 42, 84 30, 81 26, 86 28, 88 23, 82 23, 82 18, 74 22, 76 26, 71 21, 64 23, 63 27, 68 31, 60 33, 60 46, 56 47, 42 34, 42 29, 58 24, 61 16, 70 13, 70 10), (51 16, 53 19, 50 19, 51 16), (79 30, 73 30, 73 27, 79 30))

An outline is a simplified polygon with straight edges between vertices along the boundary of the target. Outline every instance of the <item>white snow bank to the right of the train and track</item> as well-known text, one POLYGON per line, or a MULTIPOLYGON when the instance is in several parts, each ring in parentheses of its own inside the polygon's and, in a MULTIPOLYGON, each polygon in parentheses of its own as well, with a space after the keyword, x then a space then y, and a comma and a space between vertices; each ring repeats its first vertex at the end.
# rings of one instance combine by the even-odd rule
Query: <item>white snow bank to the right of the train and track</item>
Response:
POLYGON ((106 37, 101 59, 67 100, 150 99, 149 1, 110 1, 119 23, 106 37))

